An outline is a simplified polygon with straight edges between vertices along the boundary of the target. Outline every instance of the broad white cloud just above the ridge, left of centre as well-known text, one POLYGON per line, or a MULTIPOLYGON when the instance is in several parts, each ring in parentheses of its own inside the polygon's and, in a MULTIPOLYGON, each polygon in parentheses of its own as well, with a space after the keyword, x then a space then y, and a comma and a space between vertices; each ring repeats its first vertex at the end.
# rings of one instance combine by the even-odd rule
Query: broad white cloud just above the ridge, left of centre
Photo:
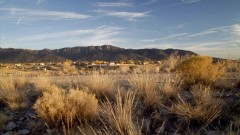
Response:
MULTIPOLYGON (((62 31, 54 33, 43 33, 31 36, 16 38, 14 43, 41 45, 44 48, 60 48, 69 46, 88 46, 88 45, 103 45, 113 44, 120 45, 128 42, 128 39, 122 38, 124 28, 102 25, 94 29, 78 29, 71 31, 62 31)), ((9 42, 11 43, 11 41, 9 42)), ((19 45, 18 45, 19 46, 19 45)), ((25 48, 25 46, 23 46, 25 48)), ((39 49, 39 47, 38 47, 39 49)))

